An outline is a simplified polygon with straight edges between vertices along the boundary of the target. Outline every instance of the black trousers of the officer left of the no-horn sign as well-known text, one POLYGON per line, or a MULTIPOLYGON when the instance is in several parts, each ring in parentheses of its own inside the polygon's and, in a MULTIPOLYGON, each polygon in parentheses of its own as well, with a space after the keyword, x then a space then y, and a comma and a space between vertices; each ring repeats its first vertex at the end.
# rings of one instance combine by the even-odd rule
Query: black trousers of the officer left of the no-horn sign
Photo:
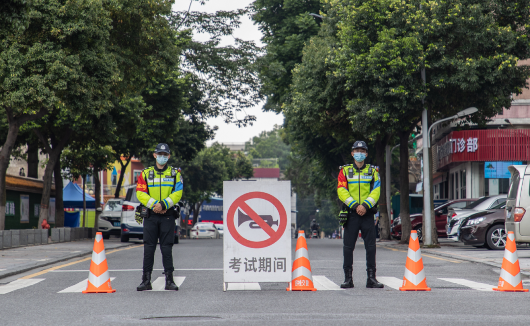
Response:
POLYGON ((153 271, 156 243, 160 239, 164 271, 174 271, 173 243, 175 242, 175 218, 173 215, 150 214, 144 219, 144 272, 153 271))

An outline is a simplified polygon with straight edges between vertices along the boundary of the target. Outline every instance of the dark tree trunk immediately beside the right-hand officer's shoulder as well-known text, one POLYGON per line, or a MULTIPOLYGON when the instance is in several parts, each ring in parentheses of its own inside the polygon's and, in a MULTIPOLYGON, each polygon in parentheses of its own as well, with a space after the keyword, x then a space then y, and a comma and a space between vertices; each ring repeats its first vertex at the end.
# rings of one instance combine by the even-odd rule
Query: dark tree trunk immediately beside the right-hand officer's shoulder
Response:
POLYGON ((386 175, 385 175, 385 147, 388 137, 377 135, 375 140, 375 160, 379 166, 379 182, 381 183, 381 195, 379 196, 379 240, 390 240, 390 220, 386 209, 386 175))

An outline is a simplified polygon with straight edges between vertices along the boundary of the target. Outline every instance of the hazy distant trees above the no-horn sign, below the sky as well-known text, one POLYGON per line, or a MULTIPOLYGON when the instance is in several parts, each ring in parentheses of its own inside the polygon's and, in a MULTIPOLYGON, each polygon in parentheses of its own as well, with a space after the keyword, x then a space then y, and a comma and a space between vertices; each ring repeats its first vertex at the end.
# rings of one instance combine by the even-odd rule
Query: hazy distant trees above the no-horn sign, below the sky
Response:
POLYGON ((290 154, 290 147, 285 143, 285 130, 278 125, 271 131, 263 131, 259 136, 252 138, 250 142, 245 143, 245 152, 248 153, 250 159, 254 158, 277 158, 278 166, 273 165, 269 161, 261 161, 259 167, 261 168, 280 168, 284 171, 287 168, 288 157, 290 154))

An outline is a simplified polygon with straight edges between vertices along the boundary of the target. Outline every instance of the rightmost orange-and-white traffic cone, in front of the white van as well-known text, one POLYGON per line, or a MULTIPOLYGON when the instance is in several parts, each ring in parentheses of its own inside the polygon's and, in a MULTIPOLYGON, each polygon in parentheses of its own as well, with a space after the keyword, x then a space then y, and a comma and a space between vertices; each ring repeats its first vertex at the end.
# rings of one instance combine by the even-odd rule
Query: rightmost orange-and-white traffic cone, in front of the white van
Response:
POLYGON ((528 289, 523 288, 521 270, 519 269, 519 258, 517 257, 517 246, 515 244, 514 232, 512 231, 509 231, 506 237, 499 286, 493 289, 501 292, 528 292, 528 289))

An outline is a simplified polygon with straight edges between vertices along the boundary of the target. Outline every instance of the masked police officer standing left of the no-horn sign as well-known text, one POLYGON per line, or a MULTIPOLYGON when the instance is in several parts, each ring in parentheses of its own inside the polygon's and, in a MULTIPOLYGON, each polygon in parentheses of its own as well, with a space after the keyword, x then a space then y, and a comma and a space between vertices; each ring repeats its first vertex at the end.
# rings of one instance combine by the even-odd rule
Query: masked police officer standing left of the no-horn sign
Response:
POLYGON ((158 144, 153 153, 156 166, 148 167, 138 177, 136 197, 147 207, 144 223, 144 275, 137 291, 151 290, 151 272, 156 243, 160 240, 162 264, 166 278, 165 289, 178 291, 173 281, 173 243, 175 237, 175 208, 182 197, 180 169, 167 166, 171 151, 167 144, 158 144))

